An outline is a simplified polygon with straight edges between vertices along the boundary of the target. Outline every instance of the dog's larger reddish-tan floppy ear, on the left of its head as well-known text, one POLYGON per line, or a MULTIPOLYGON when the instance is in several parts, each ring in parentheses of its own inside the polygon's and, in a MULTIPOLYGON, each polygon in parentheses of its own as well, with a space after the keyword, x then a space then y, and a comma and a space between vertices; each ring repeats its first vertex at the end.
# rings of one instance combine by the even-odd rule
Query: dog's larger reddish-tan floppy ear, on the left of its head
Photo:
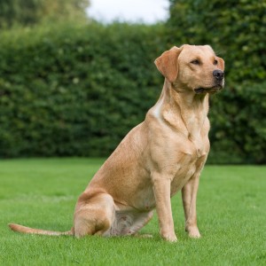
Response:
POLYGON ((178 74, 177 59, 181 52, 181 48, 174 46, 168 51, 161 54, 154 63, 161 74, 168 79, 169 82, 175 82, 178 74))

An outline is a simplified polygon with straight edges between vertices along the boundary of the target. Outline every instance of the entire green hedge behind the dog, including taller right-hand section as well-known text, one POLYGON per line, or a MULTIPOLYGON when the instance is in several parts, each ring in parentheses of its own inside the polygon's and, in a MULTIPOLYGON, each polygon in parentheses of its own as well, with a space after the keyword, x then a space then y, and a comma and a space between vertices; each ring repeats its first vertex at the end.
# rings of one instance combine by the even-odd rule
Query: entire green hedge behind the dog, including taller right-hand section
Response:
POLYGON ((2 32, 0 156, 107 156, 159 98, 153 60, 173 44, 208 43, 226 62, 208 162, 265 163, 265 3, 170 2, 165 25, 64 20, 2 32))

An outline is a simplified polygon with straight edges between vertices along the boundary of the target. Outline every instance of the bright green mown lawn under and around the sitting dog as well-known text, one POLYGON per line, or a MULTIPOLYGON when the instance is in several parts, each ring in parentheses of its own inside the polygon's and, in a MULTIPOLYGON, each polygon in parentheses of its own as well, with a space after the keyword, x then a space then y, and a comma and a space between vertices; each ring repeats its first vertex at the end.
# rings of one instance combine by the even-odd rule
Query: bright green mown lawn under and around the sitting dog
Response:
POLYGON ((77 197, 104 160, 0 161, 0 265, 266 265, 266 167, 207 166, 201 176, 201 239, 184 232, 180 193, 172 199, 178 242, 160 239, 48 237, 7 223, 67 231, 77 197))

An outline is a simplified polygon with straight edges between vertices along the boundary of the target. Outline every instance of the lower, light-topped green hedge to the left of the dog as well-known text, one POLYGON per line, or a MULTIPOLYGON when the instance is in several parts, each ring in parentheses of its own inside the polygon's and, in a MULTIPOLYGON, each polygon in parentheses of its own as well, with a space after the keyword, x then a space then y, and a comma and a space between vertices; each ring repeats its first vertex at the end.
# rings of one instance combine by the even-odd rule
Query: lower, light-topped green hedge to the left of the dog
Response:
POLYGON ((5 35, 1 156, 111 153, 159 96, 162 29, 65 23, 5 35))

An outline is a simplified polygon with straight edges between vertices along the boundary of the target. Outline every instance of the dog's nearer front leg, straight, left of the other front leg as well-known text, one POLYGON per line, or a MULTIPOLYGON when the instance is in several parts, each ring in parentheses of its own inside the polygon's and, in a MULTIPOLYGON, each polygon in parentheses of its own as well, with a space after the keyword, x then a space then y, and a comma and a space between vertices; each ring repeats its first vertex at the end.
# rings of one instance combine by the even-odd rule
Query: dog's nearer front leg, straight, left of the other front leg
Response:
POLYGON ((160 236, 170 242, 175 242, 177 239, 172 216, 170 190, 170 178, 163 178, 157 174, 153 175, 153 192, 160 223, 160 236))

